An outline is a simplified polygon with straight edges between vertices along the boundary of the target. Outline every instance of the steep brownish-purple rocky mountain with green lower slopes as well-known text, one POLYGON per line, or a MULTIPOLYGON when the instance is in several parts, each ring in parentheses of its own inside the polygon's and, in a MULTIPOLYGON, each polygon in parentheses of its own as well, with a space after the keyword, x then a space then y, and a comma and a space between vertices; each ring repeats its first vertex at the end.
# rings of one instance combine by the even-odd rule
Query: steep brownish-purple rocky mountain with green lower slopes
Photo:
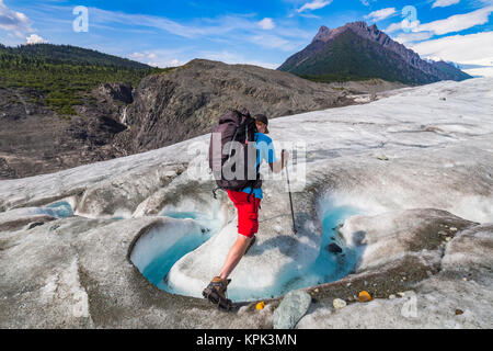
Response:
POLYGON ((381 78, 404 83, 462 80, 468 75, 450 65, 435 65, 393 41, 376 24, 346 23, 334 30, 322 25, 312 43, 279 68, 316 80, 381 78))

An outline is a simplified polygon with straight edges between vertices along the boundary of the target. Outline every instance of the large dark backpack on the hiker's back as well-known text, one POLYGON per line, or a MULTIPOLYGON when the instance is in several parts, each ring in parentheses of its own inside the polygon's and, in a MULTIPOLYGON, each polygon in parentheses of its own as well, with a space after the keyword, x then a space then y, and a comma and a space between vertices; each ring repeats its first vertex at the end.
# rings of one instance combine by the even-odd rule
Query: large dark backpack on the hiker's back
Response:
MULTIPOLYGON (((209 143, 209 168, 218 189, 242 191, 250 186, 252 193, 253 189, 262 186, 260 162, 255 167, 256 132, 255 120, 246 110, 231 110, 219 118, 209 143)), ((213 194, 216 199, 215 191, 213 194)))

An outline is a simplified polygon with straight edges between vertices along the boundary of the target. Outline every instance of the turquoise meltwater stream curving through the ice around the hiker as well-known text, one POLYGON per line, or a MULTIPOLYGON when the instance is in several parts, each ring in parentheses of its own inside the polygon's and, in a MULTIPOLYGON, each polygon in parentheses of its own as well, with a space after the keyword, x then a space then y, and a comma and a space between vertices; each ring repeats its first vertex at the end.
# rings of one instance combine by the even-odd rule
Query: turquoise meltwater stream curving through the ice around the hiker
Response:
MULTIPOLYGON (((360 252, 352 244, 344 242, 344 239, 337 235, 337 229, 346 218, 358 214, 358 210, 349 206, 334 206, 325 202, 322 211, 323 235, 319 254, 312 264, 301 270, 286 267, 284 273, 276 279, 278 283, 266 291, 243 290, 237 294, 231 291, 228 297, 234 302, 277 297, 293 290, 330 283, 349 274, 360 252)), ((161 215, 179 219, 176 230, 170 230, 177 233, 151 235, 146 239, 147 244, 137 242, 131 260, 147 280, 160 290, 173 294, 177 292, 164 283, 167 274, 182 257, 197 249, 218 233, 221 229, 221 220, 196 212, 167 212, 161 215), (169 242, 162 242, 163 240, 169 242)))

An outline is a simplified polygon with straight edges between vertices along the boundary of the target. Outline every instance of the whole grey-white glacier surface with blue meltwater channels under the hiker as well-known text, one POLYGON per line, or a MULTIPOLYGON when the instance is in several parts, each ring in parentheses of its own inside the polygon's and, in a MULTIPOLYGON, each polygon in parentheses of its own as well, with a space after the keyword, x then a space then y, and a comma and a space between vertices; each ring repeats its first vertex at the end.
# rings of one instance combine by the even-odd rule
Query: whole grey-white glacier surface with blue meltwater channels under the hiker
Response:
POLYGON ((262 168, 233 313, 199 296, 237 225, 210 192, 207 135, 0 181, 0 328, 274 328, 279 316, 285 328, 492 328, 492 87, 437 82, 273 120, 276 143, 301 143, 289 163, 298 230, 285 176, 262 168))

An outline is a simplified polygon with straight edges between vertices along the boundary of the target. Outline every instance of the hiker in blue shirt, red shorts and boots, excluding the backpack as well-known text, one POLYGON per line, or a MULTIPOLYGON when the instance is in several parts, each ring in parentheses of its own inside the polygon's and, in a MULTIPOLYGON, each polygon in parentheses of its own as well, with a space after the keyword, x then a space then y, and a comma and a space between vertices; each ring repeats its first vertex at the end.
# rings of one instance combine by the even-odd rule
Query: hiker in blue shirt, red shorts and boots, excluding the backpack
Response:
MULTIPOLYGON (((259 170, 260 165, 265 160, 273 172, 279 173, 285 168, 289 154, 283 150, 280 160, 276 160, 272 139, 266 135, 268 134, 267 117, 257 114, 254 118, 256 125, 256 133, 254 134, 254 146, 257 150, 256 169, 259 170)), ((257 178, 260 178, 259 174, 257 178)), ((255 242, 255 234, 259 230, 259 208, 263 197, 261 186, 246 186, 241 191, 227 190, 229 199, 238 211, 238 237, 230 248, 219 274, 203 292, 205 298, 226 309, 230 309, 232 305, 226 296, 227 286, 231 282, 228 276, 255 242)))

